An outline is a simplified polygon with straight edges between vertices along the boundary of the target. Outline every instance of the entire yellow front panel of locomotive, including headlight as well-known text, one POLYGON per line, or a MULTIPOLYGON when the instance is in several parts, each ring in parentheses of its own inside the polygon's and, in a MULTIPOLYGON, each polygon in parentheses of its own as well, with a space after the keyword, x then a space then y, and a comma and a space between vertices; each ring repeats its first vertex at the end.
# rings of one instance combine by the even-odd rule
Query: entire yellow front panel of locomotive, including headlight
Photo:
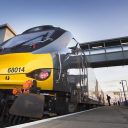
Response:
POLYGON ((26 81, 36 80, 41 90, 53 90, 51 54, 3 54, 0 63, 0 89, 20 89, 26 81))

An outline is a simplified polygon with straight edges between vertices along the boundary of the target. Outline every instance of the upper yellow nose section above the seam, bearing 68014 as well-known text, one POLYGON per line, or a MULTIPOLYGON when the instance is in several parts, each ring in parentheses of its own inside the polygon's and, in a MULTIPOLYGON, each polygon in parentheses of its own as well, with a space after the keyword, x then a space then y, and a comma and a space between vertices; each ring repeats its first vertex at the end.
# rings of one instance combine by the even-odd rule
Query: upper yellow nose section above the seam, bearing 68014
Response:
POLYGON ((40 68, 53 68, 50 54, 16 53, 0 56, 0 74, 29 73, 40 68))

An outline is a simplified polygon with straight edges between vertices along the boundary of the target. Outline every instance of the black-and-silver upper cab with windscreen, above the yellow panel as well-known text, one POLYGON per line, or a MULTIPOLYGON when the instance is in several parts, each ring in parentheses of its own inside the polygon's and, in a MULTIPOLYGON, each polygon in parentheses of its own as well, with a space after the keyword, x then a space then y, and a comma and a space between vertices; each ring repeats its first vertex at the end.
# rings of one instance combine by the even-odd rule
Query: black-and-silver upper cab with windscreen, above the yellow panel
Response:
MULTIPOLYGON (((68 35, 68 32, 65 30, 51 26, 32 28, 3 42, 0 47, 0 53, 32 52, 38 54, 59 51, 62 49, 60 42, 66 40, 66 34, 68 35)), ((67 43, 67 41, 65 42, 67 43)))

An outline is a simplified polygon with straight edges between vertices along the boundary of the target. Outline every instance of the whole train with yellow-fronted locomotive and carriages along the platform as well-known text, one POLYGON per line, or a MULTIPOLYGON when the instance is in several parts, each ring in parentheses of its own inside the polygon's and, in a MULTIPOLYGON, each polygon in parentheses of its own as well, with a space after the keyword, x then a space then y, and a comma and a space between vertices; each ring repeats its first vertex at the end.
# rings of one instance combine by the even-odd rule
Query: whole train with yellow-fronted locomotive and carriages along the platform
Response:
MULTIPOLYGON (((73 35, 36 26, 0 44, 0 116, 41 119, 104 104, 93 69, 73 35)), ((11 118, 11 119, 10 119, 11 118)))

